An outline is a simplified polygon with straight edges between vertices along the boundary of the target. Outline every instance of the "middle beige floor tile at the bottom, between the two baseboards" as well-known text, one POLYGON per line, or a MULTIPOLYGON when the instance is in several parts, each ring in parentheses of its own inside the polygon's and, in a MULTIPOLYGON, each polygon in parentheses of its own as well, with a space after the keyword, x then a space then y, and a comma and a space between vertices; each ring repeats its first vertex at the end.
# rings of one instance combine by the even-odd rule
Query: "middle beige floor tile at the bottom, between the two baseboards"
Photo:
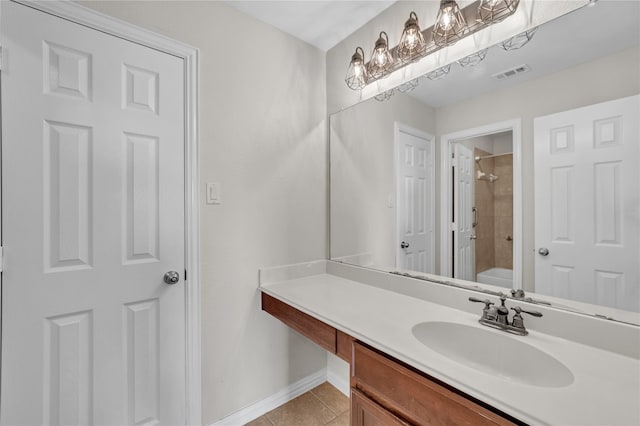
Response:
POLYGON ((307 392, 266 414, 275 426, 323 426, 336 418, 320 400, 307 392))

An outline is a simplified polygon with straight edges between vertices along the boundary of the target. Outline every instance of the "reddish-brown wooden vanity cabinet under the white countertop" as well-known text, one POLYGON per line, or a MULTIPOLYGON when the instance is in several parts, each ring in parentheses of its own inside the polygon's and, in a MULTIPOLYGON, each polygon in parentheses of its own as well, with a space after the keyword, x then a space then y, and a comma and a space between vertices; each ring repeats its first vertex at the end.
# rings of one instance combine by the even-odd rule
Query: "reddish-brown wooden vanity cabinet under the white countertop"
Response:
POLYGON ((262 293, 262 309, 351 365, 351 425, 524 424, 262 293))

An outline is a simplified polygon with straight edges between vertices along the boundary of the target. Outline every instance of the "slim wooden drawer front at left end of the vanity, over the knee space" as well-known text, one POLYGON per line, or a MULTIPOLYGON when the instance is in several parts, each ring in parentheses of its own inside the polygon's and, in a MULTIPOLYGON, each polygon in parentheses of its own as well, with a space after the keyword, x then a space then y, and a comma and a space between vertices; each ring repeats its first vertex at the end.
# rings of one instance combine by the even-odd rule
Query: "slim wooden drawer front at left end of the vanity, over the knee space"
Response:
POLYGON ((331 353, 336 353, 336 329, 314 317, 262 293, 262 310, 331 353))

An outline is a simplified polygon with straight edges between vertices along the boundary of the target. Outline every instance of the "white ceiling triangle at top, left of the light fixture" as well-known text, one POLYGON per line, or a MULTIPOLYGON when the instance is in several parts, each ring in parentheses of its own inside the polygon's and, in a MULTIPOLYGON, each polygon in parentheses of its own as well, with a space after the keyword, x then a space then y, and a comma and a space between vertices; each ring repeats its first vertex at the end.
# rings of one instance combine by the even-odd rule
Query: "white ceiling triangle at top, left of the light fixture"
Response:
POLYGON ((329 50, 395 1, 225 0, 230 6, 322 50, 329 50))

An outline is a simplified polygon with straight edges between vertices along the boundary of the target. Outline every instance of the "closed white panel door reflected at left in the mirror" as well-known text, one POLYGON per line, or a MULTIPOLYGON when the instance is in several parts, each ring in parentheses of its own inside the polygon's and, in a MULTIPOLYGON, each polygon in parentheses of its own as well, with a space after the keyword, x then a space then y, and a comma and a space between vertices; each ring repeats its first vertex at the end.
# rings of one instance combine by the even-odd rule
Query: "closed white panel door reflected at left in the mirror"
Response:
POLYGON ((396 266, 434 273, 433 137, 404 126, 397 134, 396 266))

